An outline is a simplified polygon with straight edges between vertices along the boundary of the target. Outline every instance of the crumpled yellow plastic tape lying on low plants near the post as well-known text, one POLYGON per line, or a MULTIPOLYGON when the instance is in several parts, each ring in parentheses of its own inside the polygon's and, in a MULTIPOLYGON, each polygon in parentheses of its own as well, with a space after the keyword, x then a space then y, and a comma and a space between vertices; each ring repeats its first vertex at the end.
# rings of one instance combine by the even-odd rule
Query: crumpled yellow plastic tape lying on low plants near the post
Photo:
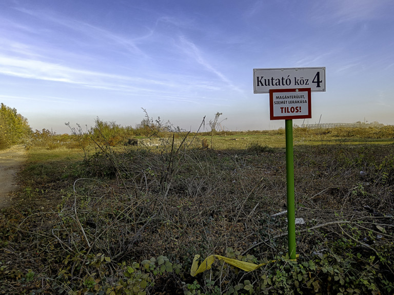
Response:
MULTIPOLYGON (((298 255, 296 256, 298 258, 298 255)), ((211 268, 212 263, 215 261, 215 258, 217 259, 221 259, 224 262, 226 262, 227 264, 230 264, 232 266, 238 267, 242 270, 245 271, 253 271, 258 269, 259 267, 266 265, 268 263, 271 262, 275 262, 277 261, 277 259, 275 260, 270 260, 268 262, 265 263, 260 263, 260 264, 254 264, 254 263, 250 263, 250 262, 245 262, 245 261, 241 261, 241 260, 237 260, 237 259, 231 259, 228 257, 224 257, 224 256, 220 256, 220 255, 210 255, 207 258, 205 258, 205 260, 201 263, 200 267, 199 262, 197 261, 200 258, 200 255, 195 255, 194 259, 193 259, 193 263, 191 265, 191 270, 190 270, 190 275, 192 277, 194 277, 195 275, 198 275, 199 273, 208 270, 211 268)), ((291 259, 290 259, 291 260, 291 259)))

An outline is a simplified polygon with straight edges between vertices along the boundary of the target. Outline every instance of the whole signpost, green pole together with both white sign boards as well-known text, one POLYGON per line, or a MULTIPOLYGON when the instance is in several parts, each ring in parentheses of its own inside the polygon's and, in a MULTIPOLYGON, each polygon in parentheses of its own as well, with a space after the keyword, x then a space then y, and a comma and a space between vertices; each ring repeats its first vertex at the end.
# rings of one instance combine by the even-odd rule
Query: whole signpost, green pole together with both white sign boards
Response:
POLYGON ((269 93, 271 120, 285 120, 287 235, 289 258, 295 259, 293 119, 310 119, 311 92, 326 91, 326 68, 253 69, 253 92, 269 93), (300 88, 300 86, 305 88, 300 88))

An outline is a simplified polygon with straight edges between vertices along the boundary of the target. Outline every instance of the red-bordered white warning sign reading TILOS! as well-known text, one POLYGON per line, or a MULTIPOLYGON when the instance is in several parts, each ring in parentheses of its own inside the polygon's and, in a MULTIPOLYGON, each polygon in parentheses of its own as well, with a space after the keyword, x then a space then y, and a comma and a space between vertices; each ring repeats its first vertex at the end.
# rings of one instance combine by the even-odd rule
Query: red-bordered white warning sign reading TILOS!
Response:
POLYGON ((310 92, 310 88, 270 89, 270 119, 289 120, 312 118, 310 92))

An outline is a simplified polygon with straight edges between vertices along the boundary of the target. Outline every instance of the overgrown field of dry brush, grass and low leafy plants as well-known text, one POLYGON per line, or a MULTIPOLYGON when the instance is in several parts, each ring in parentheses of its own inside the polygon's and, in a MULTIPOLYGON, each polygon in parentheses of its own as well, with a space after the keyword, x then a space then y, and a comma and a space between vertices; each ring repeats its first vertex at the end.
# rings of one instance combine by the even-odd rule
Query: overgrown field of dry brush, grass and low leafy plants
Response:
POLYGON ((151 123, 161 145, 126 144, 144 132, 101 121, 73 136, 36 131, 18 201, 0 218, 0 293, 393 292, 392 128, 294 129, 291 261, 278 214, 284 130, 199 137, 151 123), (196 254, 267 264, 219 260, 192 277, 196 254))

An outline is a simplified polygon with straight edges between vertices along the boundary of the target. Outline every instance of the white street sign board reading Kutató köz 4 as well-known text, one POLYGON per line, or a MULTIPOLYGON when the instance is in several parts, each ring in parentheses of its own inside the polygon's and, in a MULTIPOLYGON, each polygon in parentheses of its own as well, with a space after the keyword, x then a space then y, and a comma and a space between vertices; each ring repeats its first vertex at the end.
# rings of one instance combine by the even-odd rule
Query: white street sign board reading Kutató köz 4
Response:
POLYGON ((326 68, 253 69, 254 93, 296 88, 326 91, 326 68))

